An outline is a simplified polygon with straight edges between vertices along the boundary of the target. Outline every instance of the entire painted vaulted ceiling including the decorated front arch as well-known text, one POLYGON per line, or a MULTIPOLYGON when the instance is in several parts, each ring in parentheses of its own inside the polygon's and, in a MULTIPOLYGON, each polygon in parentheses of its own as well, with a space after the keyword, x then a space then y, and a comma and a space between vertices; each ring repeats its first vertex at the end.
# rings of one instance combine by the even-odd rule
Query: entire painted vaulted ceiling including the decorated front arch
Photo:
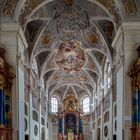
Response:
POLYGON ((92 96, 121 20, 139 18, 138 0, 0 0, 3 21, 16 20, 49 95, 92 96), (134 18, 135 17, 135 18, 134 18), (63 93, 63 94, 62 94, 63 93))

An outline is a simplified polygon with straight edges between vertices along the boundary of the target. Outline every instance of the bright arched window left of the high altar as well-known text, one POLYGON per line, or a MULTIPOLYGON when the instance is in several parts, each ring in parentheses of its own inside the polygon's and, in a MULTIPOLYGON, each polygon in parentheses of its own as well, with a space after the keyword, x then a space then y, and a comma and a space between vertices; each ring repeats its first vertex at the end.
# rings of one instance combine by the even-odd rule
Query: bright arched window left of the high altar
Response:
POLYGON ((51 112, 52 113, 58 112, 58 99, 56 97, 52 97, 51 99, 51 112))

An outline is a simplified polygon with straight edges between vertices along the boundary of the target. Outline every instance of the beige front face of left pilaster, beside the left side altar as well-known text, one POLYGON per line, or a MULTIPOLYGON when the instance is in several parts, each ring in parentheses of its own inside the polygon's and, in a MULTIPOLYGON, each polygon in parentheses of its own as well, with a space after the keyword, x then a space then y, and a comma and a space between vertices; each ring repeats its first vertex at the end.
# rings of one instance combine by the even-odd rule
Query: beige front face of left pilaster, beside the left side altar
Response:
POLYGON ((16 53, 17 53, 17 28, 15 28, 12 24, 1 24, 1 43, 4 44, 6 50, 6 60, 14 67, 14 72, 16 74, 16 78, 13 80, 12 87, 12 127, 13 127, 13 139, 18 139, 18 90, 16 83, 18 83, 18 70, 17 70, 17 61, 16 61, 16 53), (12 31, 11 31, 12 28, 12 31))

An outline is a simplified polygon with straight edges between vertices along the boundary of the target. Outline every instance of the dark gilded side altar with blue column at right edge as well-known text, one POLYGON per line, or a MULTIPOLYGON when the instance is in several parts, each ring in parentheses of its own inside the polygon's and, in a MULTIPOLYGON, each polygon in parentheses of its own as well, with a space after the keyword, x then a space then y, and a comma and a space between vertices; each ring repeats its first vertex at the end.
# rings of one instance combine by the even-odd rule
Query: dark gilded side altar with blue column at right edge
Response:
POLYGON ((129 72, 132 90, 132 138, 140 138, 140 46, 137 48, 138 58, 129 72))

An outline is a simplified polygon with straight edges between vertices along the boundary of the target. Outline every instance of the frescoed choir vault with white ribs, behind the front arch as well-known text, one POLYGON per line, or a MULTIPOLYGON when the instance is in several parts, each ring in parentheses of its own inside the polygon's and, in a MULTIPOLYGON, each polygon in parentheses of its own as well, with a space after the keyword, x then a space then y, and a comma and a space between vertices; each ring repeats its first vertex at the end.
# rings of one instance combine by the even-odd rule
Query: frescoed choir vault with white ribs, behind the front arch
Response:
MULTIPOLYGON (((81 2, 85 5, 84 1, 81 2)), ((101 31, 97 27, 99 26, 97 22, 93 24, 90 21, 91 16, 99 14, 108 17, 108 14, 91 2, 88 2, 88 7, 96 7, 98 11, 93 15, 92 10, 87 11, 85 6, 82 8, 81 6, 76 0, 71 3, 64 0, 59 3, 53 1, 39 9, 42 11, 40 14, 36 12, 32 15, 32 18, 38 17, 42 23, 46 23, 32 49, 32 54, 40 61, 39 65, 42 68, 40 75, 45 75, 50 96, 62 92, 63 96, 66 96, 70 91, 75 96, 79 96, 81 92, 75 88, 80 91, 86 90, 86 94, 91 95, 98 77, 101 76, 102 62, 106 56, 110 56, 107 42, 102 34, 109 28, 108 22, 105 29, 101 31), (45 11, 49 13, 45 14, 45 11), (47 18, 49 20, 46 20, 47 18), (45 55, 46 51, 49 53, 45 55), (58 92, 60 88, 63 91, 58 92)), ((113 31, 114 26, 110 32, 113 31)), ((36 32, 36 35, 38 33, 36 32)), ((113 38, 112 34, 110 36, 113 38)))

